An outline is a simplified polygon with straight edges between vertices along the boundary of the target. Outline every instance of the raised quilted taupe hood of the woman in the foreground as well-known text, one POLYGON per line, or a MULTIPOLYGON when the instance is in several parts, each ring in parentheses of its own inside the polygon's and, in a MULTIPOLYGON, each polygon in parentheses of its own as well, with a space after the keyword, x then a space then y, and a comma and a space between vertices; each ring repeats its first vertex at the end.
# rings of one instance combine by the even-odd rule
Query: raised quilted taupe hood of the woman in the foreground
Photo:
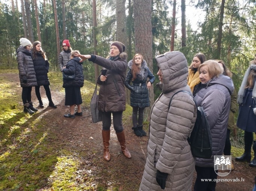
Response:
POLYGON ((163 76, 161 87, 163 93, 187 86, 188 62, 184 54, 179 51, 166 52, 155 57, 163 76))

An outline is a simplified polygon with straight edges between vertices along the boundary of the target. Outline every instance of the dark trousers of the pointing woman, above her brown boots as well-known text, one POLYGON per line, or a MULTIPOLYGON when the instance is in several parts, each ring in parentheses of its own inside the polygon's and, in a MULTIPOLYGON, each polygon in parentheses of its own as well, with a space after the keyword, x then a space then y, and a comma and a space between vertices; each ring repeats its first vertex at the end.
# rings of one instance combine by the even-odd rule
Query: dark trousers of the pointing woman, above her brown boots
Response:
POLYGON ((110 130, 111 126, 111 114, 113 115, 113 126, 116 133, 123 131, 122 117, 123 112, 102 112, 102 130, 110 130))

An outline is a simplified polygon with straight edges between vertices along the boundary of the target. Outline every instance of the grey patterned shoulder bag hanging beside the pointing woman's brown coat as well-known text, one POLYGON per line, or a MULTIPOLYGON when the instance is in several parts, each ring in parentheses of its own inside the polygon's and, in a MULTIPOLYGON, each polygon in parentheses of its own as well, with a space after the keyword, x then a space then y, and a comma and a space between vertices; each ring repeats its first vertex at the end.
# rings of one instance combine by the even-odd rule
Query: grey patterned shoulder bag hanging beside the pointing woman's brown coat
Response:
POLYGON ((96 87, 95 87, 95 90, 93 92, 92 99, 90 102, 93 123, 102 121, 102 112, 98 110, 98 100, 99 100, 99 95, 97 95, 97 84, 96 84, 96 87))

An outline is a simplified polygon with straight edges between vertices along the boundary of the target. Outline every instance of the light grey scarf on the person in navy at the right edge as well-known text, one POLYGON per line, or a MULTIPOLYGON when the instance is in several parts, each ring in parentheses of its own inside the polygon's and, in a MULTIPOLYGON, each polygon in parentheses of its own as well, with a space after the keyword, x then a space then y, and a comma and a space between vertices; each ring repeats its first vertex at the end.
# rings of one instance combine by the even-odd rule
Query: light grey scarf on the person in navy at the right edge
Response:
MULTIPOLYGON (((256 71, 256 65, 254 65, 254 64, 250 65, 244 74, 244 78, 242 80, 241 86, 240 86, 238 94, 237 94, 237 103, 238 104, 242 104, 242 100, 243 100, 244 92, 245 92, 245 86, 247 84, 247 78, 248 78, 251 70, 256 71)), ((256 83, 254 84, 254 87, 253 87, 253 100, 255 101, 255 99, 256 99, 256 83)))

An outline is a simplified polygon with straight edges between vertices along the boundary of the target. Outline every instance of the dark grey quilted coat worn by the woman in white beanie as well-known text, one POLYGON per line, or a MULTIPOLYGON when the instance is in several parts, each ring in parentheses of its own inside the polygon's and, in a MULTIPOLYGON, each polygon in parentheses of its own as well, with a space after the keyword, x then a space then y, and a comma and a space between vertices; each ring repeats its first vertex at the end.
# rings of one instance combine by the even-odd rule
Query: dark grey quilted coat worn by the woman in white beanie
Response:
POLYGON ((31 52, 23 46, 17 49, 17 61, 20 76, 21 87, 37 86, 36 73, 31 57, 31 52), (23 79, 27 79, 27 83, 23 83, 23 79))

